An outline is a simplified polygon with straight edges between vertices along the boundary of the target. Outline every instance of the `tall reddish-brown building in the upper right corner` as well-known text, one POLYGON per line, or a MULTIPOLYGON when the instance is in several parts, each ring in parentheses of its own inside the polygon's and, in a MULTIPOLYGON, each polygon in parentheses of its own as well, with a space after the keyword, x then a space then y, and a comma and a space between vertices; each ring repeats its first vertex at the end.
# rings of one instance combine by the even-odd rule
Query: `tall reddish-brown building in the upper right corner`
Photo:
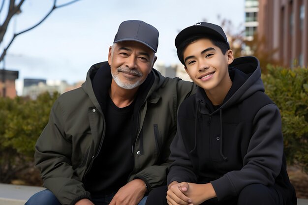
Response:
POLYGON ((308 0, 259 0, 258 35, 284 65, 308 66, 308 0))

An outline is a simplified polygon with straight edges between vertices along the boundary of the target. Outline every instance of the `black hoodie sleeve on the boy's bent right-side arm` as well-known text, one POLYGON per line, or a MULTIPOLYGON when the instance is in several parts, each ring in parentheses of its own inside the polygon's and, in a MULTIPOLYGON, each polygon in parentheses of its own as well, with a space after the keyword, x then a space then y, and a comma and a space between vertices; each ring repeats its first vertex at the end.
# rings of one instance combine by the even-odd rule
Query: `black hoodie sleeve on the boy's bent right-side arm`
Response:
POLYGON ((273 185, 283 155, 281 118, 275 104, 261 108, 253 119, 253 135, 244 157, 244 167, 211 181, 218 200, 238 196, 249 184, 273 185))

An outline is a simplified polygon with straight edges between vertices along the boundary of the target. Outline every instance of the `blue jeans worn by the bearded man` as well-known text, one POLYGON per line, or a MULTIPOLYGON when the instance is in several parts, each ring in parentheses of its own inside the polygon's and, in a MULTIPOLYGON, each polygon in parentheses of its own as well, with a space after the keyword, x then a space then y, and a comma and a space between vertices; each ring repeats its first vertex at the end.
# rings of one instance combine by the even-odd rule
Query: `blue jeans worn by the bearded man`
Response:
MULTIPOLYGON (((114 195, 106 196, 104 198, 99 198, 99 199, 92 199, 92 202, 95 205, 108 205, 113 197, 114 195)), ((138 205, 145 205, 146 201, 147 201, 147 196, 142 198, 142 200, 139 202, 138 205)), ((31 196, 31 198, 28 200, 28 202, 26 202, 25 205, 61 205, 61 204, 51 191, 45 189, 31 196)))

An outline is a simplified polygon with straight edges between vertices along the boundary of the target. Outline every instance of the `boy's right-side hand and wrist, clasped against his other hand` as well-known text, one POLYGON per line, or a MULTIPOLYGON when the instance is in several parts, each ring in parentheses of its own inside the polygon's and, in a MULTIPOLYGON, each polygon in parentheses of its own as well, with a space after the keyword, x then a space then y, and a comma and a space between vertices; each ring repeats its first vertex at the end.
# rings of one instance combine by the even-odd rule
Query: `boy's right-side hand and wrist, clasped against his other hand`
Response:
POLYGON ((209 199, 216 197, 216 192, 211 183, 195 184, 187 183, 188 186, 180 188, 187 197, 192 200, 193 205, 199 205, 209 199))

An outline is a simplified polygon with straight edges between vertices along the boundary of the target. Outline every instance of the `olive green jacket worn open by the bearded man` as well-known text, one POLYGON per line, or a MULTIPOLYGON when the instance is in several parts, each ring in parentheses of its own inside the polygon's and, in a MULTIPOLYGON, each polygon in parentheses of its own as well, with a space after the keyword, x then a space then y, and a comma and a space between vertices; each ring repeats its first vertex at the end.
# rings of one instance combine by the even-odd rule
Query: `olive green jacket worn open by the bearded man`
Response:
MULTIPOLYGON (((91 82, 100 67, 110 69, 107 62, 93 65, 81 88, 63 93, 57 99, 35 146, 35 163, 43 186, 62 205, 91 199, 85 190, 84 176, 100 150, 106 124, 91 82)), ((152 72, 154 83, 139 112, 134 167, 127 180, 141 178, 149 190, 166 183, 169 146, 177 130, 177 111, 180 103, 195 90, 190 82, 165 78, 154 69, 152 72), (143 132, 142 140, 140 132, 143 132)))

